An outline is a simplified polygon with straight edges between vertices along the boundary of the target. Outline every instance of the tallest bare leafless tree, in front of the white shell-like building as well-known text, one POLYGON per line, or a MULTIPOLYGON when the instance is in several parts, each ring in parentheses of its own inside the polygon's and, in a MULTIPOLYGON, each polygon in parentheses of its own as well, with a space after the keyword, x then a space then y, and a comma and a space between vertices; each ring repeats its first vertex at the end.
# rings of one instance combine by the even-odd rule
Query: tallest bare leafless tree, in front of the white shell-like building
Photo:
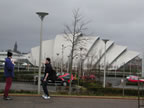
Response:
MULTIPOLYGON (((71 43, 71 54, 70 54, 70 63, 69 63, 69 72, 70 78, 72 74, 73 59, 77 54, 75 51, 78 49, 78 46, 83 46, 85 39, 82 39, 83 33, 87 30, 86 25, 88 22, 84 21, 84 18, 79 13, 79 9, 73 11, 73 21, 72 25, 65 25, 65 39, 71 43), (82 45, 83 44, 83 45, 82 45)), ((71 80, 69 85, 69 94, 71 94, 71 80)))

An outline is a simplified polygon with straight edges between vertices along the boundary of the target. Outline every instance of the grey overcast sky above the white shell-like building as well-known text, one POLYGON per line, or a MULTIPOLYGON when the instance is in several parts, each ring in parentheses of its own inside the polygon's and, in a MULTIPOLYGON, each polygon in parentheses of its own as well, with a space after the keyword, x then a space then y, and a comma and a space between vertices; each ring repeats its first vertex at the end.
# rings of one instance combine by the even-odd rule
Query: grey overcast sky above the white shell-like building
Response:
POLYGON ((0 50, 28 52, 39 45, 40 19, 37 11, 48 12, 43 40, 54 39, 72 22, 72 10, 80 9, 88 32, 107 38, 130 50, 144 51, 144 0, 0 0, 0 50))

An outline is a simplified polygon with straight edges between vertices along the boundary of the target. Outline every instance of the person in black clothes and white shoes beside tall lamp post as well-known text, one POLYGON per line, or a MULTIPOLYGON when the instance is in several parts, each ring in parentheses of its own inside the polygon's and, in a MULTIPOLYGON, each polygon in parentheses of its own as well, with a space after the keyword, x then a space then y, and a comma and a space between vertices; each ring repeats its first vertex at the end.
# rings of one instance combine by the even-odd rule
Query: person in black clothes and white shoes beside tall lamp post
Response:
POLYGON ((42 87, 43 87, 43 91, 45 93, 45 95, 42 95, 42 97, 44 99, 50 99, 48 89, 47 89, 47 80, 52 75, 52 72, 53 72, 53 69, 51 66, 51 60, 50 60, 50 58, 46 58, 45 73, 44 73, 44 78, 42 79, 42 87))

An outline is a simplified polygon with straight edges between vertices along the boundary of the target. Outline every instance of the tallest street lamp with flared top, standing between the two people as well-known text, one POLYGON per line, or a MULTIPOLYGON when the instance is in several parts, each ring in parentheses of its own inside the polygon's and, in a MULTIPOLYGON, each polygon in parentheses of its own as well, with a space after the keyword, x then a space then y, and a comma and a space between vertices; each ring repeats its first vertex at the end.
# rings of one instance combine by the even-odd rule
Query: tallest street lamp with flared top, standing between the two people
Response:
POLYGON ((40 28, 40 48, 39 48, 39 74, 38 74, 38 94, 40 94, 40 78, 41 78, 41 59, 42 59, 42 27, 43 19, 48 13, 46 12, 36 12, 36 14, 41 19, 41 28, 40 28))

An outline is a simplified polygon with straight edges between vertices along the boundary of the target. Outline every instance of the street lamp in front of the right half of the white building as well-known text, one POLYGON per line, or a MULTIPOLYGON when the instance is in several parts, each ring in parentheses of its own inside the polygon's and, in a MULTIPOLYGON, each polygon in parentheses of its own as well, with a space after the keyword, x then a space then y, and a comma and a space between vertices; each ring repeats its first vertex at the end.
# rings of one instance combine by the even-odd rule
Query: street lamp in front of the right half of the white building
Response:
POLYGON ((106 85, 106 43, 109 41, 108 39, 102 39, 105 44, 105 51, 104 51, 104 78, 103 78, 103 88, 106 85))

